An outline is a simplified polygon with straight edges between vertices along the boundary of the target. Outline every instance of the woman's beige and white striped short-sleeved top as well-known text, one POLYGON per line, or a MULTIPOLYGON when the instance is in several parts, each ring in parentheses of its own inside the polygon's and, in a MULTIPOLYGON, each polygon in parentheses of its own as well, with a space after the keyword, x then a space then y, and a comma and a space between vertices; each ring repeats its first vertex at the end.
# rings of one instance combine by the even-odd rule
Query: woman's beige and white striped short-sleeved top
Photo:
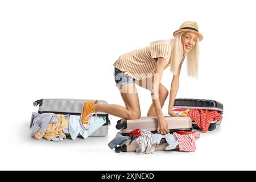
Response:
POLYGON ((137 80, 152 77, 155 72, 155 64, 158 57, 163 57, 167 65, 171 65, 172 39, 170 41, 156 42, 147 47, 136 49, 119 56, 114 67, 125 72, 137 80))

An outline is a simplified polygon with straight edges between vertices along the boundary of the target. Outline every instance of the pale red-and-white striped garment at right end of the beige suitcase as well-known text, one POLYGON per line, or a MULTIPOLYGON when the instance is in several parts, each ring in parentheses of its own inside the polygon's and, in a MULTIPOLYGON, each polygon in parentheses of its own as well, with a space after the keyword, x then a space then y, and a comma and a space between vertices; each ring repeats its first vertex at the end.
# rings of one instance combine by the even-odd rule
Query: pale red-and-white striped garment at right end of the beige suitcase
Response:
POLYGON ((180 151, 195 152, 196 151, 196 140, 199 139, 200 134, 195 132, 191 134, 177 134, 172 133, 179 142, 180 151))

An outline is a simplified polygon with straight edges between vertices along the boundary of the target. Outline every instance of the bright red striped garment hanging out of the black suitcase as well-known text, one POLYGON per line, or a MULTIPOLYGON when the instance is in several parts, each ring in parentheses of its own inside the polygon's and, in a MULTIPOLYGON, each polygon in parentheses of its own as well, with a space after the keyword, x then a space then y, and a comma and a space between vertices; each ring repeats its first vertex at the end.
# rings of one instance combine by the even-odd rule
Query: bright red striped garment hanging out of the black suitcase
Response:
POLYGON ((202 133, 208 131, 208 127, 210 126, 210 122, 214 120, 221 121, 222 116, 217 110, 205 110, 205 109, 191 109, 188 113, 188 117, 190 117, 193 121, 196 122, 196 125, 199 126, 202 133))

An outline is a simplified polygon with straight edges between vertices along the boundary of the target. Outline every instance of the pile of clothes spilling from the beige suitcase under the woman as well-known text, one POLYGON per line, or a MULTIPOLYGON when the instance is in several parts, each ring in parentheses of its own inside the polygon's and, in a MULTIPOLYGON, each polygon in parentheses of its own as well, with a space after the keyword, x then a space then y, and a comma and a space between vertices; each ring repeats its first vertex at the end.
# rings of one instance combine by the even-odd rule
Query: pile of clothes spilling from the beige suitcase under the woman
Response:
MULTIPOLYGON (((117 133, 115 138, 109 142, 110 149, 122 147, 127 140, 136 140, 138 148, 137 154, 154 154, 155 147, 158 144, 168 143, 165 150, 180 150, 185 152, 194 152, 196 150, 195 140, 199 139, 200 134, 196 131, 177 131, 165 135, 151 133, 150 131, 135 129, 129 134, 122 135, 117 133)), ((129 144, 130 144, 129 143, 129 144)))

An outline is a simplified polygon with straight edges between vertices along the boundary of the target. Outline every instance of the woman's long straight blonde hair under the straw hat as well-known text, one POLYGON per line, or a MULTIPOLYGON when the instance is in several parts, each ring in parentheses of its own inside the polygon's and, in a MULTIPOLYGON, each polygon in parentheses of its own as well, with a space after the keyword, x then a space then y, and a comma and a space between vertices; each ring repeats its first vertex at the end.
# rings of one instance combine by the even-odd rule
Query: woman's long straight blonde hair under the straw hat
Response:
MULTIPOLYGON (((183 56, 187 55, 187 72, 189 77, 198 77, 198 67, 199 67, 199 40, 195 44, 195 47, 189 53, 183 51, 183 46, 181 44, 181 36, 185 32, 180 32, 177 34, 172 41, 172 53, 171 53, 171 72, 176 75, 177 69, 179 68, 180 62, 183 60, 183 56)), ((170 42, 171 39, 157 40, 150 44, 158 42, 170 42)))

